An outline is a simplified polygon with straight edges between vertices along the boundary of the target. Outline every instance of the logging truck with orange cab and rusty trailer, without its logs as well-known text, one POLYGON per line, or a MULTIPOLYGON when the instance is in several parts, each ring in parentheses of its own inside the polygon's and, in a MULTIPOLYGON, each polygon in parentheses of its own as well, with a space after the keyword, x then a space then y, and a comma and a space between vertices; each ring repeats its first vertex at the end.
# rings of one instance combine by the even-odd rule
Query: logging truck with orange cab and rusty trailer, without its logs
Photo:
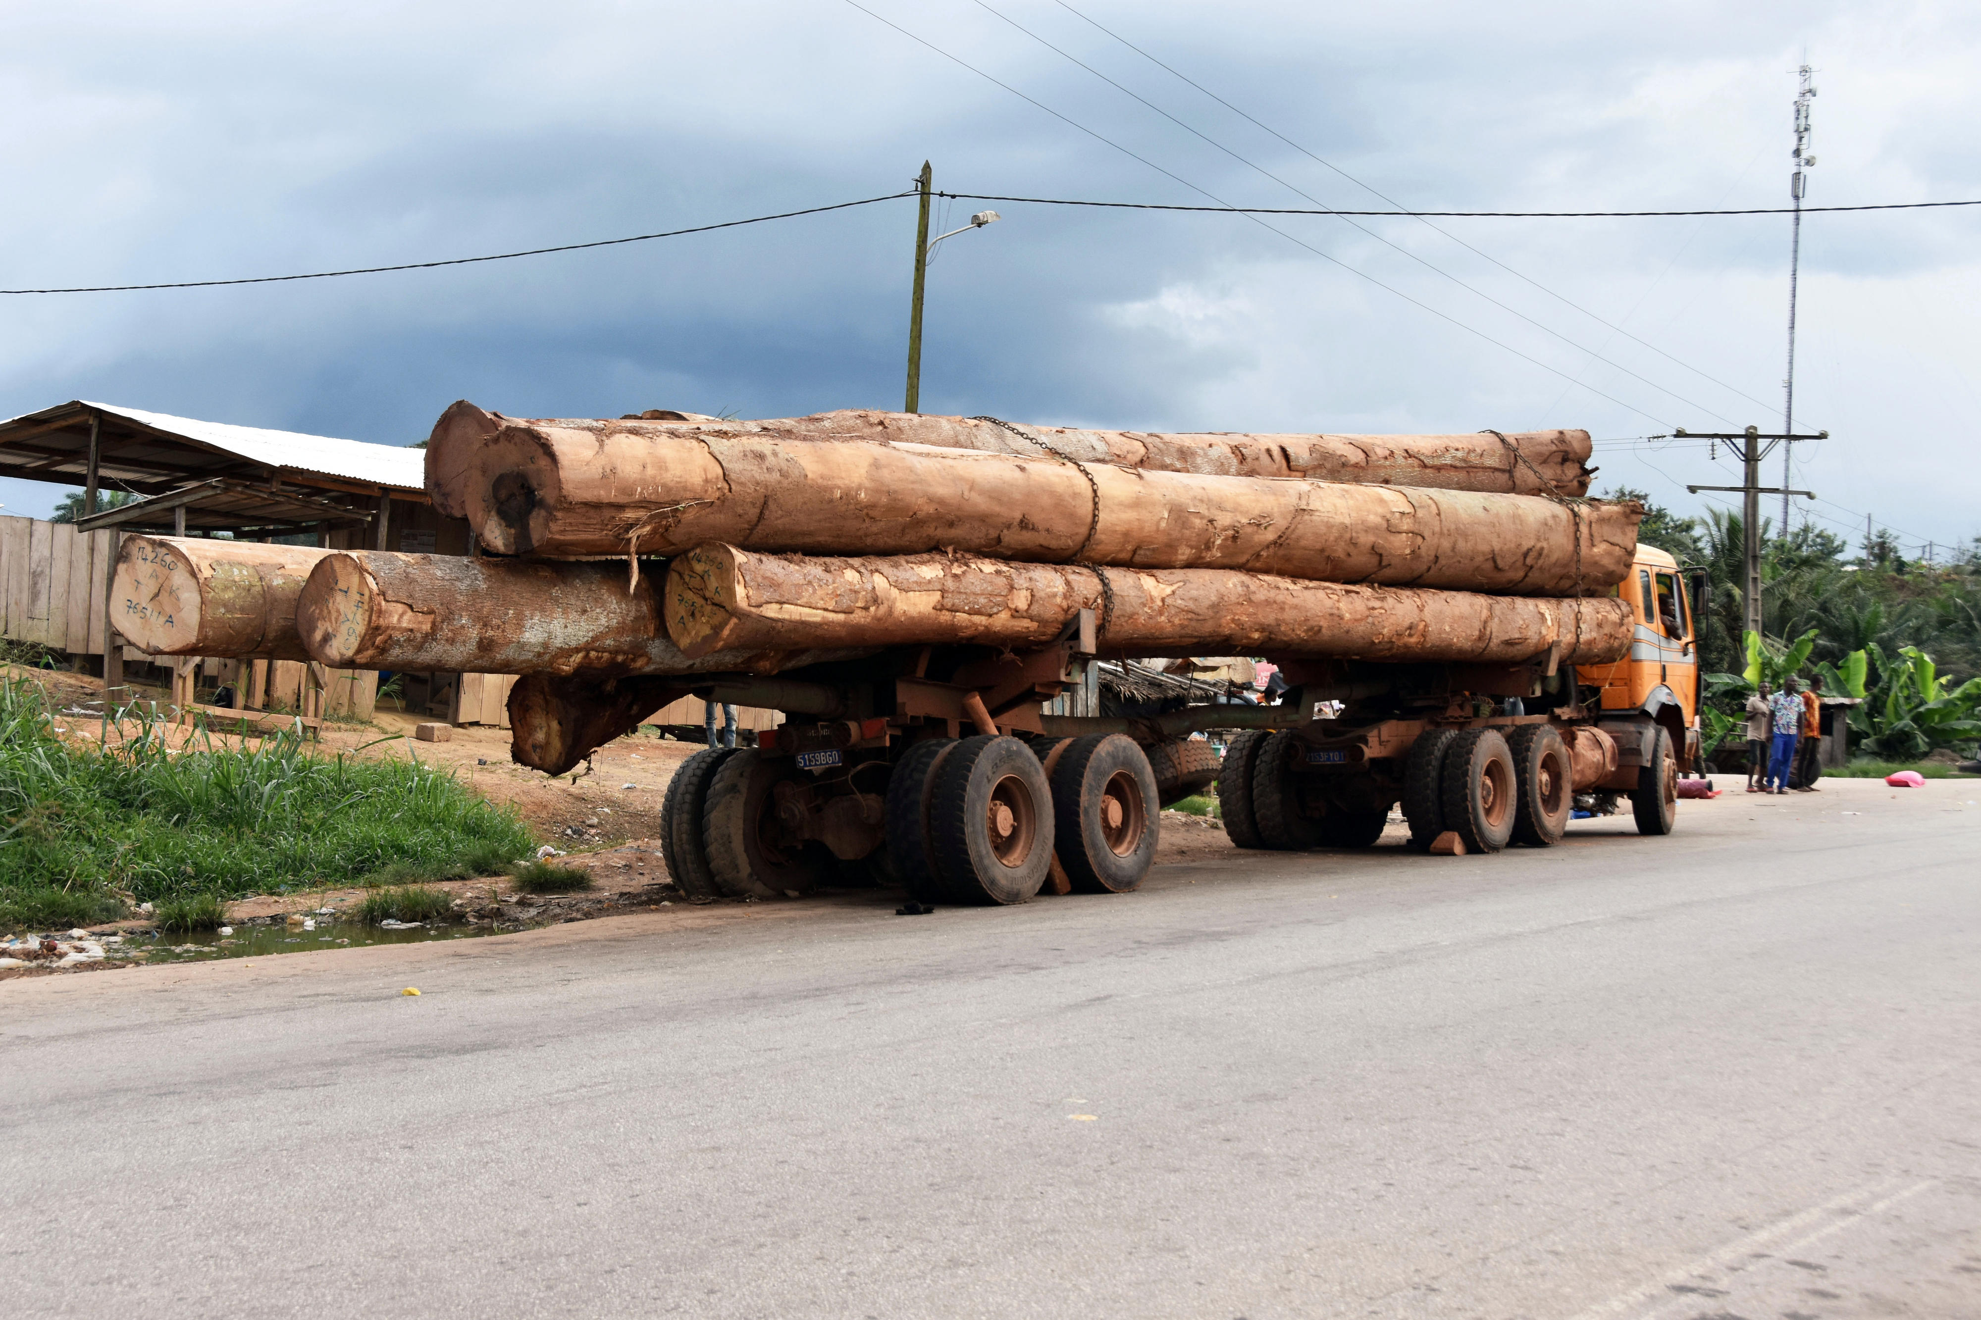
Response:
POLYGON ((705 898, 800 894, 848 870, 921 902, 1125 892, 1161 809, 1212 783, 1240 848, 1367 848, 1399 803, 1416 848, 1547 846, 1577 811, 1624 803, 1638 832, 1668 834, 1698 757, 1696 603, 1652 547, 1611 595, 1630 630, 1613 662, 1563 664, 1565 636, 1517 662, 1274 656, 1292 688, 1272 706, 1046 714, 1107 654, 1094 608, 1026 650, 893 646, 709 676, 697 696, 784 723, 679 767, 668 870, 705 898), (1202 731, 1230 735, 1222 757, 1191 739, 1202 731))

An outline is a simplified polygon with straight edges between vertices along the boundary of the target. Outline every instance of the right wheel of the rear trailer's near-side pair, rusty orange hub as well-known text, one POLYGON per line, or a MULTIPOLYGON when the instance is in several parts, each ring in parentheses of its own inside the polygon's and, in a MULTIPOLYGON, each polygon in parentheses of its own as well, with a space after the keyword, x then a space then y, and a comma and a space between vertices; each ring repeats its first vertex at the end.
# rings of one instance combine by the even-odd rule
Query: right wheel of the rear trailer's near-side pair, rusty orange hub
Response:
POLYGON ((1127 894, 1155 860, 1155 771, 1125 733, 1074 739, 1052 769, 1052 838, 1084 894, 1127 894))

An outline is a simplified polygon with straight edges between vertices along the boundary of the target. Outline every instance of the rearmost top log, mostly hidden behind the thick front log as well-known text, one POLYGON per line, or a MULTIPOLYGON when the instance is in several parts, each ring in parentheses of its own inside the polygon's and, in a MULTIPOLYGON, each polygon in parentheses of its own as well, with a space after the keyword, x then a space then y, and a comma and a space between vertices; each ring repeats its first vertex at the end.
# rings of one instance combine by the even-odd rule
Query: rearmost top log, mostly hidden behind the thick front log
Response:
MULTIPOLYGON (((1163 434, 1137 430, 1084 430, 1074 426, 998 424, 969 416, 929 416, 921 412, 872 412, 848 408, 812 416, 763 422, 676 414, 681 420, 576 418, 521 422, 555 426, 594 436, 600 456, 640 444, 642 438, 729 438, 769 440, 899 440, 945 450, 985 454, 1058 452, 1084 464, 1119 464, 1151 472, 1199 472, 1202 476, 1319 478, 1327 482, 1375 482, 1385 486, 1428 486, 1436 490, 1478 490, 1508 495, 1589 494, 1587 430, 1525 430, 1460 436, 1351 436, 1351 434, 1163 434)), ((428 440, 428 472, 436 501, 452 517, 466 505, 454 503, 456 476, 473 464, 473 450, 515 424, 469 402, 458 402, 440 418, 428 440)))

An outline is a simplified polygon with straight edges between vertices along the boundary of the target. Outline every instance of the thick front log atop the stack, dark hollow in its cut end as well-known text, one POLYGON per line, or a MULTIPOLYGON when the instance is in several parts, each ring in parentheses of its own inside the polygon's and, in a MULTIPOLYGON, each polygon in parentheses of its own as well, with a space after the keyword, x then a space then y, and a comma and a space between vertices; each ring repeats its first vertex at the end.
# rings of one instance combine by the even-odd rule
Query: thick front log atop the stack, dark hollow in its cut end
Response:
POLYGON ((911 555, 1246 569, 1517 595, 1601 593, 1630 569, 1636 503, 1260 480, 919 444, 590 432, 456 404, 428 484, 491 551, 911 555), (479 412, 479 410, 473 410, 479 412))

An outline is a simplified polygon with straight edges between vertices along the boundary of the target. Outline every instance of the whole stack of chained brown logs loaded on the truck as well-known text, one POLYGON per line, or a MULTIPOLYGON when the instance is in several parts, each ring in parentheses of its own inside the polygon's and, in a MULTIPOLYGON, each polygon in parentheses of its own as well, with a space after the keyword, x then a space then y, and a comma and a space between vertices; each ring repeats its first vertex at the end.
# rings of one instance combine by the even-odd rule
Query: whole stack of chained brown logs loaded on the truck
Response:
POLYGON ((1589 434, 1135 434, 826 412, 515 420, 426 450, 477 557, 131 537, 145 650, 523 674, 515 755, 559 773, 707 674, 887 646, 1107 658, 1615 660, 1634 503, 1589 434))

